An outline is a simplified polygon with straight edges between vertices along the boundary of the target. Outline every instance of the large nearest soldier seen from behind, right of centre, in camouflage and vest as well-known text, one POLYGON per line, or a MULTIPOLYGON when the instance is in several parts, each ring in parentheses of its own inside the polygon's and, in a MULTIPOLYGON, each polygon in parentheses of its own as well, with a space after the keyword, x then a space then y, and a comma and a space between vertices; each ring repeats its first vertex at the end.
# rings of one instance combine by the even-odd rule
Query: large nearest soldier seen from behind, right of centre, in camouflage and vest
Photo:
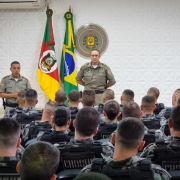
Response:
POLYGON ((94 159, 92 165, 81 172, 100 172, 111 179, 170 179, 169 174, 148 159, 139 158, 137 152, 144 146, 144 125, 137 118, 119 122, 115 137, 113 158, 94 159))

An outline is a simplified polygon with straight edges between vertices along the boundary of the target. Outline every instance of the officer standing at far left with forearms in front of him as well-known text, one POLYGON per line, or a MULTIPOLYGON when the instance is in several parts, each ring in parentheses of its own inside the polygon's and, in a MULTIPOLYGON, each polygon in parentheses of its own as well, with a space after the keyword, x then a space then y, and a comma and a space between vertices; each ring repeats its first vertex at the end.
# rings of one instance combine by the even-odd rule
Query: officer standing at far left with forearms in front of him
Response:
POLYGON ((1 80, 0 97, 5 98, 5 112, 17 107, 16 98, 19 91, 31 89, 28 79, 20 75, 20 69, 20 63, 13 61, 10 67, 11 75, 5 76, 1 80))

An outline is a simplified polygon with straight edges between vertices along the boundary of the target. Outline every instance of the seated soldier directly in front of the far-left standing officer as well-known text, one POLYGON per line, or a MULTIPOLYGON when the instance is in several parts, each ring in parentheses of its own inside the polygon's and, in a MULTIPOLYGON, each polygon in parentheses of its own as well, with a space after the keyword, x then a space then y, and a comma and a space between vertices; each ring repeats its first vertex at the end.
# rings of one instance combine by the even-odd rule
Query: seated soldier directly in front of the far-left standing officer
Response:
POLYGON ((22 110, 22 108, 25 107, 25 102, 24 102, 25 93, 26 93, 25 90, 22 90, 22 91, 18 92, 17 99, 16 99, 18 107, 12 108, 9 111, 7 111, 6 115, 4 117, 12 117, 13 114, 15 114, 16 111, 19 112, 19 111, 22 110))

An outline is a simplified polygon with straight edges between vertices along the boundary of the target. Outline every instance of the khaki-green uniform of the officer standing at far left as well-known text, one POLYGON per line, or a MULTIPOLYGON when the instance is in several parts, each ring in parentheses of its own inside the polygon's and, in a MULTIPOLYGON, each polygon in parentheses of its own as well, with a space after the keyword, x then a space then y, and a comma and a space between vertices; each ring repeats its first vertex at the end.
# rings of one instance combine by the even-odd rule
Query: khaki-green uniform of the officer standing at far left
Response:
MULTIPOLYGON (((15 79, 12 77, 12 75, 8 75, 2 78, 1 80, 0 93, 12 94, 14 92, 19 92, 28 89, 31 89, 31 85, 28 79, 23 76, 20 76, 18 79, 15 79)), ((11 109, 17 102, 15 98, 7 98, 6 103, 7 103, 6 105, 6 111, 7 111, 11 109)))

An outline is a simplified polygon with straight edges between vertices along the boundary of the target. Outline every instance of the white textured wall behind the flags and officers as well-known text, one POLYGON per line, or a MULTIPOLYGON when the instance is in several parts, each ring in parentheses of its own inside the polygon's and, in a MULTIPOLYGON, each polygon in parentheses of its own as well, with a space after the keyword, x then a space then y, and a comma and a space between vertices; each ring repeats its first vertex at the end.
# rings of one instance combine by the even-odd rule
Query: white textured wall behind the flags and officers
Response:
MULTIPOLYGON (((101 61, 114 72, 117 83, 112 89, 117 100, 129 88, 140 103, 148 88, 156 86, 161 92, 159 102, 171 105, 172 93, 180 87, 179 0, 53 0, 50 8, 58 61, 69 5, 75 30, 86 23, 106 30, 109 46, 101 61)), ((38 91, 38 107, 47 100, 36 78, 45 22, 45 9, 0 10, 0 78, 10 74, 12 61, 20 61, 21 74, 38 91)), ((79 69, 87 59, 76 57, 79 69)))

